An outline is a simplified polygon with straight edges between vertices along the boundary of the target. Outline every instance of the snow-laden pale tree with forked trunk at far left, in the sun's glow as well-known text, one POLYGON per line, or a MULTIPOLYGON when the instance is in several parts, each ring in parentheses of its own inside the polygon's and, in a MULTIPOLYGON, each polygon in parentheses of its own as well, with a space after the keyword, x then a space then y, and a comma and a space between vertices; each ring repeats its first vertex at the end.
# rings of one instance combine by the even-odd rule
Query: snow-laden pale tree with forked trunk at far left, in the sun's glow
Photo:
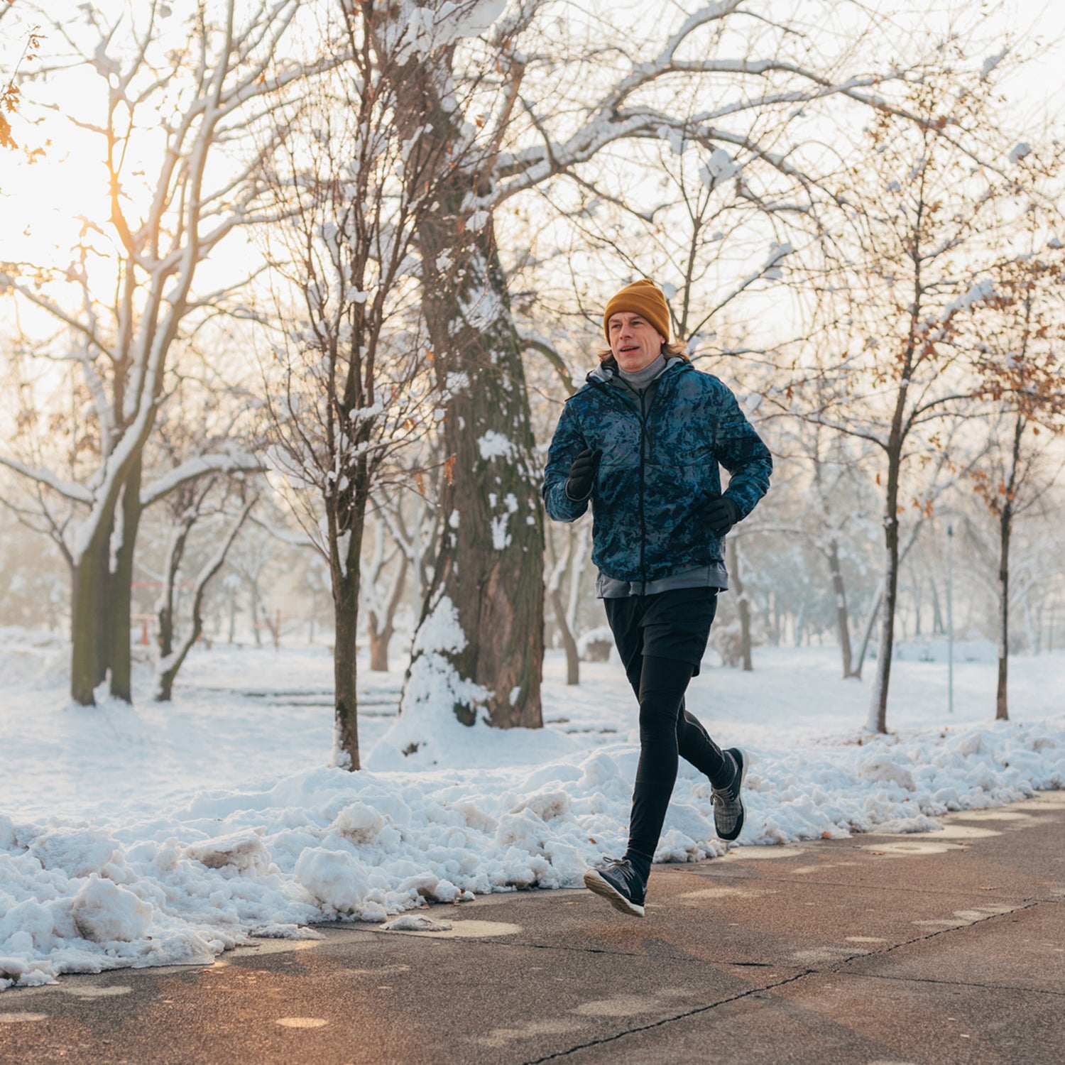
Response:
MULTIPOLYGON (((145 501, 161 495, 159 486, 142 484, 144 450, 166 399, 167 367, 180 341, 231 291, 197 292, 195 282, 234 230, 262 216, 264 131, 279 97, 307 72, 281 51, 297 0, 261 0, 240 14, 239 6, 194 6, 177 38, 163 26, 164 4, 114 21, 93 5, 79 9, 77 21, 42 13, 49 40, 68 47, 56 65, 77 63, 99 77, 102 124, 71 118, 99 137, 111 216, 86 222, 69 266, 3 263, 0 289, 55 321, 59 332, 33 354, 80 370, 96 444, 70 477, 17 456, 0 461, 69 508, 68 518, 48 521, 73 574, 70 691, 83 705, 109 669, 113 692, 129 698, 133 552, 145 501), (155 170, 142 179, 145 153, 155 170), (102 289, 101 261, 111 274, 102 289)), ((234 462, 232 454, 199 456, 167 485, 234 462)))

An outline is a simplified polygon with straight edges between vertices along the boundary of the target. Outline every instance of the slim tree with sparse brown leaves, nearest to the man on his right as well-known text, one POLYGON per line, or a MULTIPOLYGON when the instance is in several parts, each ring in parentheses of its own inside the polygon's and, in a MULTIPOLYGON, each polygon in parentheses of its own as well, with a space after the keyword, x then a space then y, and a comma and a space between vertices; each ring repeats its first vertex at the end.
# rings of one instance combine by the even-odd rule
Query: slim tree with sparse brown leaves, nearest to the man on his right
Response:
POLYGON ((1016 192, 993 80, 966 73, 964 56, 954 59, 962 70, 930 72, 899 114, 880 112, 842 170, 836 195, 857 234, 838 282, 851 316, 830 364, 809 378, 817 395, 807 416, 882 455, 884 586, 867 722, 874 732, 887 728, 903 474, 932 461, 944 420, 974 392, 963 325, 993 291, 981 264, 1009 225, 1016 192))

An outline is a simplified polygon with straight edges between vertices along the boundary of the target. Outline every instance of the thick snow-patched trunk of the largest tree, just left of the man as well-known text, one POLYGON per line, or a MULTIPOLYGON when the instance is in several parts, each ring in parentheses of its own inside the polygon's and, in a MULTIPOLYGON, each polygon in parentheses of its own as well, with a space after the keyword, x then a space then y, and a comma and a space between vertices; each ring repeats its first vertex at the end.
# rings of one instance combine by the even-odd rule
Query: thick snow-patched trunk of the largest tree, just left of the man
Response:
MULTIPOLYGON (((409 64, 398 80, 396 120, 415 146, 408 161, 433 168, 436 211, 417 232, 423 309, 439 382, 447 388, 442 437, 447 476, 443 531, 423 602, 426 620, 454 608, 465 643, 446 659, 486 691, 496 727, 542 727, 543 512, 522 347, 489 217, 466 228, 471 194, 487 195, 492 161, 465 157, 464 116, 452 102, 450 51, 409 64), (428 122, 427 122, 428 119, 428 122), (460 160, 445 170, 442 161, 460 160), (446 601, 446 603, 444 602, 446 601)), ((458 641, 459 643, 462 640, 458 641)), ((417 649, 422 648, 422 651, 417 649)), ((464 686, 470 690, 470 685, 464 686)), ((459 690, 459 687, 456 687, 459 690)), ((474 697, 453 709, 473 724, 474 697)))

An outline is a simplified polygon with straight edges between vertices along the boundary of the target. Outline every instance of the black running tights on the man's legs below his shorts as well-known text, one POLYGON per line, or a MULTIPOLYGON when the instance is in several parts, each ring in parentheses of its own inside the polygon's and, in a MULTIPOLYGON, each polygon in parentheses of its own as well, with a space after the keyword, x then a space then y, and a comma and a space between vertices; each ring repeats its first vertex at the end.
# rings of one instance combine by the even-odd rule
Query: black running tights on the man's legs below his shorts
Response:
POLYGON ((684 692, 693 671, 688 662, 654 655, 640 655, 628 663, 628 681, 640 701, 640 761, 626 856, 639 861, 644 875, 661 835, 678 756, 711 783, 723 769, 732 769, 726 767, 721 748, 684 707, 684 692))

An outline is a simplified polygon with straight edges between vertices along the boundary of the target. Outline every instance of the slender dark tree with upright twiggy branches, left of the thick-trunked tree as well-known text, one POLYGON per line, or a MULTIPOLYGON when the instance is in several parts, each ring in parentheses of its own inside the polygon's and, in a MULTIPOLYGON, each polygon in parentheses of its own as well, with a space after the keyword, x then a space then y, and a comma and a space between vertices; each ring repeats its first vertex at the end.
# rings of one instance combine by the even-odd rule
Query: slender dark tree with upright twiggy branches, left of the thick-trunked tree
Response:
MULTIPOLYGON (((329 564, 337 760, 360 766, 356 641, 360 560, 374 493, 410 482, 399 461, 437 432, 441 404, 471 387, 431 376, 416 234, 439 211, 443 161, 403 91, 404 40, 372 47, 373 4, 345 6, 343 73, 317 79, 279 114, 284 159, 269 176, 288 225, 266 233, 275 332, 264 360, 271 464, 329 564), (411 125, 413 124, 413 125, 411 125)), ((426 446, 426 452, 428 448, 426 446)), ((452 475, 453 463, 446 463, 452 475)))

